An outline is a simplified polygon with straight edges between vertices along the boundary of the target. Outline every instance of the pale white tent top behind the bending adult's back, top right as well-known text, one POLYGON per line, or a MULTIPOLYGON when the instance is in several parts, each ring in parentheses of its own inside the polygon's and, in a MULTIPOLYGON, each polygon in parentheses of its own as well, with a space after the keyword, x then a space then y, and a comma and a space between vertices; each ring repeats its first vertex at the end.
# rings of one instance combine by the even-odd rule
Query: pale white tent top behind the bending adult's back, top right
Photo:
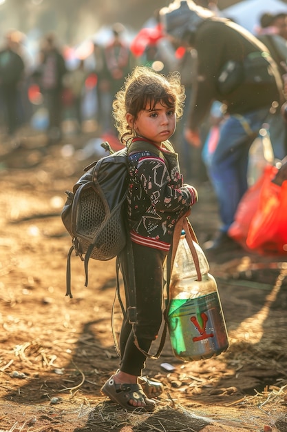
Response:
POLYGON ((287 12, 287 3, 281 0, 243 0, 221 12, 224 17, 233 19, 235 23, 255 33, 263 13, 287 12))

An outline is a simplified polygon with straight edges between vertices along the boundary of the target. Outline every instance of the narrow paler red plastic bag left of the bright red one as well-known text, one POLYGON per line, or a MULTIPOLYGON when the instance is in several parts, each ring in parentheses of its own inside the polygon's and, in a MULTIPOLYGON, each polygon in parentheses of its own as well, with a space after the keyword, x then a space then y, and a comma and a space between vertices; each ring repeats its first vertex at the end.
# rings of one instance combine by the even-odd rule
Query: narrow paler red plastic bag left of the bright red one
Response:
POLYGON ((248 188, 246 193, 243 195, 238 204, 235 219, 233 224, 228 230, 228 235, 232 237, 235 242, 238 242, 242 247, 249 249, 246 245, 246 239, 248 235, 248 230, 251 226, 251 221, 257 212, 259 206, 259 197, 262 190, 264 181, 270 181, 273 179, 277 173, 277 168, 271 165, 267 165, 264 168, 264 172, 261 177, 256 181, 256 183, 248 188))

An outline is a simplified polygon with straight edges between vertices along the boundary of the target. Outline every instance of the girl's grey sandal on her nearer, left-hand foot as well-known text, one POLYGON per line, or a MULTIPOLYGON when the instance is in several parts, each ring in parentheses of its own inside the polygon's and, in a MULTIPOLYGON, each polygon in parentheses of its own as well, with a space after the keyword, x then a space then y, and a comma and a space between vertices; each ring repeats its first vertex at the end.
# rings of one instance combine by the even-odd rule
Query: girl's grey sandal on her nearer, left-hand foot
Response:
POLYGON ((127 409, 127 411, 143 410, 151 412, 156 408, 156 402, 145 395, 140 384, 116 384, 114 375, 107 380, 100 391, 122 408, 127 409), (145 406, 133 406, 129 404, 131 399, 144 402, 145 406))

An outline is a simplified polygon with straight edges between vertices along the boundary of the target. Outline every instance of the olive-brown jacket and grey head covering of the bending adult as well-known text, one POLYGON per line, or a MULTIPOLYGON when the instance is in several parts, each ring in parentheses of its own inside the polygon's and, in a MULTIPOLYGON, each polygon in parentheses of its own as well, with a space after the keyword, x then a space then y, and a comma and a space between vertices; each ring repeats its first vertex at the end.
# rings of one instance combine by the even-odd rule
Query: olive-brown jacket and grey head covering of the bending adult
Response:
POLYGON ((191 129, 196 129, 208 114, 214 100, 226 105, 229 114, 244 114, 284 101, 281 78, 274 61, 266 66, 274 80, 269 84, 246 84, 222 95, 218 77, 227 61, 243 61, 251 52, 264 52, 264 46, 250 32, 228 19, 215 17, 193 2, 181 2, 178 10, 163 10, 167 33, 195 48, 198 53, 198 83, 191 101, 191 129), (191 8, 191 9, 190 9, 191 8), (180 10, 181 9, 181 10, 180 10))

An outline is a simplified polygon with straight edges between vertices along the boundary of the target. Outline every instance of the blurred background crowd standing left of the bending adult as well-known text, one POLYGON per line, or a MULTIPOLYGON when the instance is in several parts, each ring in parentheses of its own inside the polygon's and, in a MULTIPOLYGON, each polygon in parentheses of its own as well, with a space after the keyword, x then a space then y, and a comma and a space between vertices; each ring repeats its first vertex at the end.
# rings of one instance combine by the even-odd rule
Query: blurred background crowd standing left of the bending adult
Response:
POLYGON ((45 130, 48 144, 56 143, 63 137, 65 118, 74 121, 75 133, 83 132, 84 121, 92 119, 98 135, 116 137, 112 101, 129 72, 140 63, 151 66, 155 61, 158 72, 168 73, 175 66, 167 64, 174 57, 173 48, 169 44, 160 55, 164 47, 158 46, 158 38, 139 55, 138 42, 133 52, 122 23, 110 26, 108 40, 106 35, 103 41, 91 38, 75 48, 59 43, 51 32, 39 41, 36 58, 31 59, 25 35, 10 30, 0 52, 2 137, 13 142, 21 127, 29 124, 45 130))

